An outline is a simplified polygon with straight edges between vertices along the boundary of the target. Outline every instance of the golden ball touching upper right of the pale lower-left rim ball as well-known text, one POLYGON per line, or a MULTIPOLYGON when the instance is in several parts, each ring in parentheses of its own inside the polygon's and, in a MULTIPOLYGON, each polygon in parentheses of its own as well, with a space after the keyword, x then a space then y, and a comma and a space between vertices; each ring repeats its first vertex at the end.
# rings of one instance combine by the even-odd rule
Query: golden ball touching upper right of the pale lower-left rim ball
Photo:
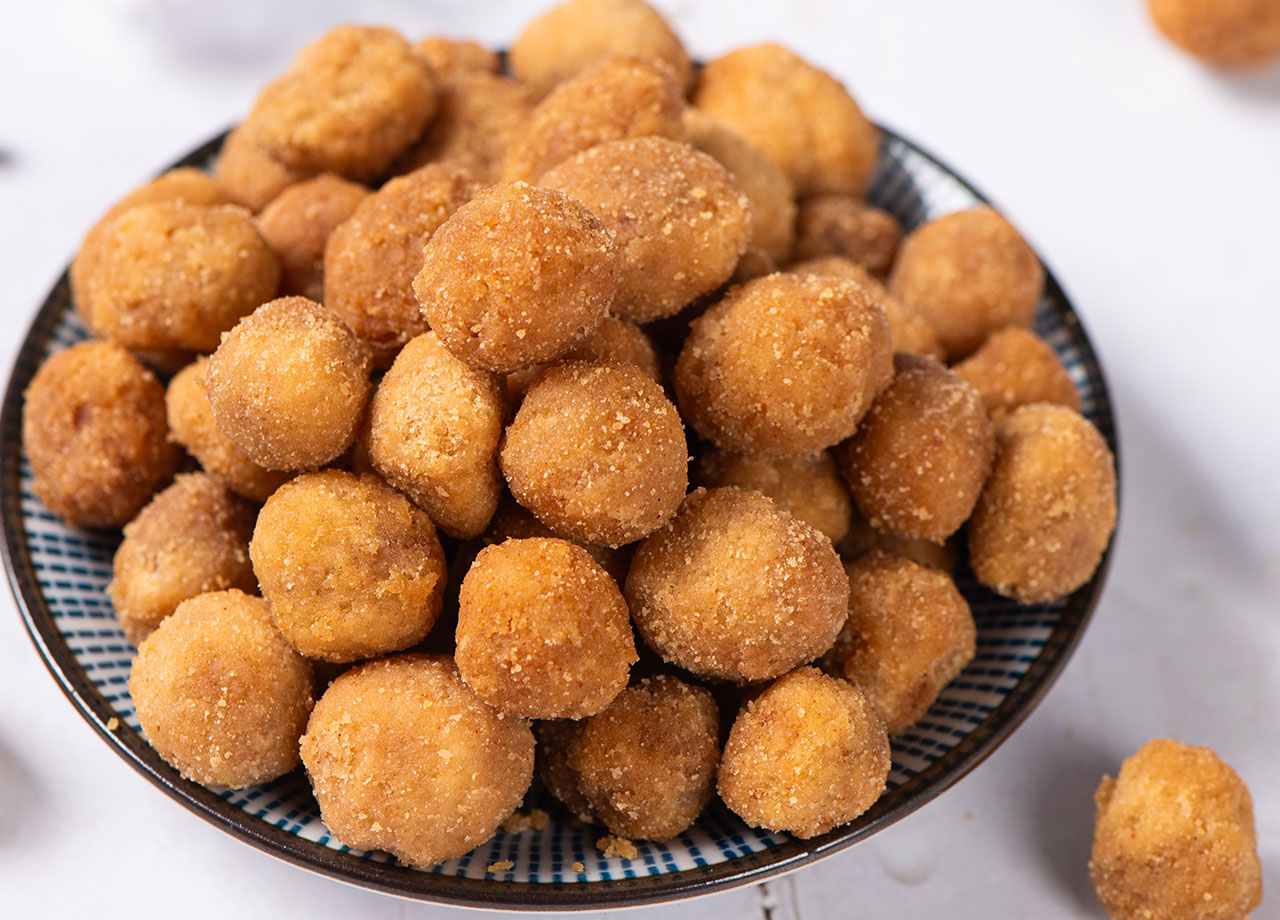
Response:
POLYGON ((445 563, 431 518, 369 473, 285 482, 259 512, 248 554, 271 618, 307 658, 407 649, 440 613, 445 563))

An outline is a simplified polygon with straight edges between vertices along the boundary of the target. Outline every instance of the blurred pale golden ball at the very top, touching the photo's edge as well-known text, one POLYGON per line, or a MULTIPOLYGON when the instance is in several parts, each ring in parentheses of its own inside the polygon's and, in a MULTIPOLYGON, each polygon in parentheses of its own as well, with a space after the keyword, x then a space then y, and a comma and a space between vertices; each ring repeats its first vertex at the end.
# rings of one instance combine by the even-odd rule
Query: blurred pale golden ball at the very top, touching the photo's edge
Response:
POLYGON ((570 0, 530 22, 512 42, 512 73, 545 96, 603 58, 632 54, 666 61, 681 95, 689 88, 689 54, 662 13, 644 0, 570 0))

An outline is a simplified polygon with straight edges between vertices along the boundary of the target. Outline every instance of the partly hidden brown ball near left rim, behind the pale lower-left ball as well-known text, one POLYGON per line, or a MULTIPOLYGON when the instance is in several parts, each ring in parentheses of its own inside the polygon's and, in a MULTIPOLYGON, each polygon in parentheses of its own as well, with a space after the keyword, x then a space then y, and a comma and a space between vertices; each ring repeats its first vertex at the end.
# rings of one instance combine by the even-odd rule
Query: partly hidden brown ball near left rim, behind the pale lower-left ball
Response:
POLYGON ((124 527, 108 586, 133 645, 178 604, 229 587, 253 594, 248 560, 257 509, 209 473, 179 476, 124 527))

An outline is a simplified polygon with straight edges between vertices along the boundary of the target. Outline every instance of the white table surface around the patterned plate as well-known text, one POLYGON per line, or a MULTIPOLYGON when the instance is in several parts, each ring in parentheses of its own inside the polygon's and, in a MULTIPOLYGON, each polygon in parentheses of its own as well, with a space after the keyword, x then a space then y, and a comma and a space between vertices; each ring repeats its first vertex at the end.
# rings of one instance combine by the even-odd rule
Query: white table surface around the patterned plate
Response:
MULTIPOLYGON (((0 367, 83 230, 343 20, 511 41, 541 0, 4 0, 0 367)), ((635 916, 1101 916, 1092 792, 1146 740, 1249 783, 1280 916, 1280 68, 1204 70, 1142 0, 667 0, 690 49, 776 38, 940 154, 1046 253, 1119 416, 1123 509, 1083 642, 932 805, 768 885, 635 916)), ((460 916, 326 880, 138 777, 0 598, 0 915, 460 916)))

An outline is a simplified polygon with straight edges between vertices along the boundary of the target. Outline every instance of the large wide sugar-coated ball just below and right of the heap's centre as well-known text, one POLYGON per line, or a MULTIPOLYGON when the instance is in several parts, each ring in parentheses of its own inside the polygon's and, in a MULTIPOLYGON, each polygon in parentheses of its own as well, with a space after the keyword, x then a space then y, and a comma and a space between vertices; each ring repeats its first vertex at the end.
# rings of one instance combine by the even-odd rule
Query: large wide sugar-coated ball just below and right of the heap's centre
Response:
POLYGON ((631 619, 650 649, 700 677, 745 683, 831 647, 849 578, 831 541, 758 491, 690 493, 636 549, 631 619))

